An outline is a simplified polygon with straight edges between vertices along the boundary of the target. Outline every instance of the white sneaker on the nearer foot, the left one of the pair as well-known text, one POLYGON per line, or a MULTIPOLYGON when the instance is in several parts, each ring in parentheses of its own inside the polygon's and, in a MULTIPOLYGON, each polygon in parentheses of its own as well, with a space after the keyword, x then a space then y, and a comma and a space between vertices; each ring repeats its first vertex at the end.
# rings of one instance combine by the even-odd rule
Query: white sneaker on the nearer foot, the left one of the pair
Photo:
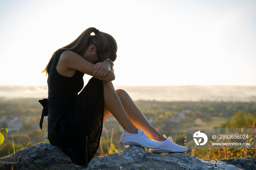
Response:
POLYGON ((143 131, 138 128, 138 134, 130 134, 124 130, 121 136, 120 144, 123 145, 138 145, 146 148, 157 149, 160 147, 158 142, 149 139, 143 131))

